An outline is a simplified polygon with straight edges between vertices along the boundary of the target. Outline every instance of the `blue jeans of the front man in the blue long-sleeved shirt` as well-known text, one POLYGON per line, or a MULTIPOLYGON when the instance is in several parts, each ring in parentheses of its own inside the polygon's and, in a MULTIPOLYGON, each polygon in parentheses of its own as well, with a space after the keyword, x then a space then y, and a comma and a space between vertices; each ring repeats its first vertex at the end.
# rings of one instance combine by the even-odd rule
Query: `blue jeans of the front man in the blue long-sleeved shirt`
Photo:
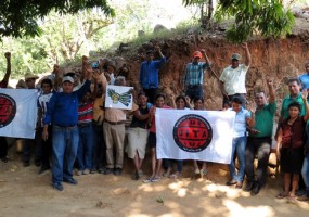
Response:
POLYGON ((60 183, 73 178, 73 165, 78 148, 78 127, 52 129, 52 182, 60 183))

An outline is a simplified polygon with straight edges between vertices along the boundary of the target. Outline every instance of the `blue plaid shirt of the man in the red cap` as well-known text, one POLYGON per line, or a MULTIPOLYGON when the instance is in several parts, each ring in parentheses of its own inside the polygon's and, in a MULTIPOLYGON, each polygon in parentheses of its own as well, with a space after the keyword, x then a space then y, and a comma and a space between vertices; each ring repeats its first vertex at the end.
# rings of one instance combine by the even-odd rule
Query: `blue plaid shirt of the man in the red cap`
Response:
POLYGON ((184 85, 203 85, 204 73, 208 67, 209 65, 203 62, 198 62, 197 64, 189 63, 185 68, 184 85))

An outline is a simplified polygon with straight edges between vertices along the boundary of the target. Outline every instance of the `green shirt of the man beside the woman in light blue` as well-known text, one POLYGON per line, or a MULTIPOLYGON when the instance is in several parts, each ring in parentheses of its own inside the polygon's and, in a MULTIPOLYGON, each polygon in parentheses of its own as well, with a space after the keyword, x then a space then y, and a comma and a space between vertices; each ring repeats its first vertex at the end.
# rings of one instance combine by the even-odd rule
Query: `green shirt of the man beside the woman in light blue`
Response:
POLYGON ((262 110, 257 110, 255 113, 256 124, 254 129, 258 130, 257 135, 249 135, 250 137, 271 137, 273 127, 273 117, 276 111, 276 103, 269 103, 262 110))

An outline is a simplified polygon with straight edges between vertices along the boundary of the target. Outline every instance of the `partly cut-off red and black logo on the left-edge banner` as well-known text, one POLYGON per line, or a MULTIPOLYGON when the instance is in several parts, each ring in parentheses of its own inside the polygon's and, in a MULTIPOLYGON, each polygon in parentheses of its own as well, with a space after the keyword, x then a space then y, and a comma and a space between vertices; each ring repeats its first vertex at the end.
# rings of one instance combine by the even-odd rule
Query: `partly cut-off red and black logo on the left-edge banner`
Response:
POLYGON ((0 128, 9 125, 16 114, 16 103, 10 95, 0 93, 0 128))

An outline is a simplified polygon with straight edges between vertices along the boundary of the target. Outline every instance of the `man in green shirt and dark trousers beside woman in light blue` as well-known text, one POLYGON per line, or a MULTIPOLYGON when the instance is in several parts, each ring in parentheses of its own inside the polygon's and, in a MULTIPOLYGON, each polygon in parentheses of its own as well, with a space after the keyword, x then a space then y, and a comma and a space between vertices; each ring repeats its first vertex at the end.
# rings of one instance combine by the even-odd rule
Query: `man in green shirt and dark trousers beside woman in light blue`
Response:
POLYGON ((271 149, 271 137, 273 127, 273 117, 276 111, 276 103, 273 90, 273 81, 267 79, 269 90, 269 103, 263 91, 255 93, 257 105, 255 112, 255 126, 249 129, 249 137, 246 146, 246 175, 247 186, 244 191, 250 191, 252 195, 259 193, 267 179, 267 166, 271 149), (258 167, 256 169, 257 179, 255 180, 254 159, 258 157, 258 167))

